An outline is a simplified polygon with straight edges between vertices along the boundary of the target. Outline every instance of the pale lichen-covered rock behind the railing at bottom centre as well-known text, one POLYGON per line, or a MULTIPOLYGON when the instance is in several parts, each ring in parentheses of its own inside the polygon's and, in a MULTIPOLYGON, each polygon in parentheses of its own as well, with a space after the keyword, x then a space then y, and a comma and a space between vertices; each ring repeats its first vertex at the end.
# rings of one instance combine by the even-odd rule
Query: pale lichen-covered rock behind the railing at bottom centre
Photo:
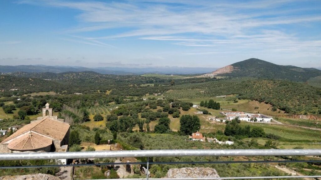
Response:
POLYGON ((213 168, 169 169, 164 178, 211 178, 220 177, 213 168))

